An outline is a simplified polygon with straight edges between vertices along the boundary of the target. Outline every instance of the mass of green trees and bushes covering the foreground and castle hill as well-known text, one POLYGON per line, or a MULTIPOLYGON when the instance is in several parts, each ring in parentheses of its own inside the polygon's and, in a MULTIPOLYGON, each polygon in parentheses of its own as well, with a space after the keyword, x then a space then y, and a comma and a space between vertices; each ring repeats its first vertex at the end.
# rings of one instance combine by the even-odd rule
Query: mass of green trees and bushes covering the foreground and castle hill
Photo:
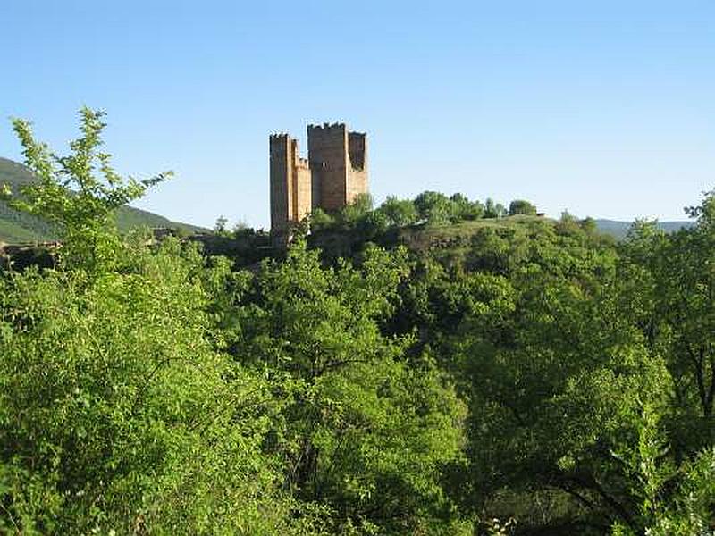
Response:
POLYGON ((0 275, 2 532, 715 528, 715 195, 618 243, 523 202, 362 200, 246 271, 120 234, 156 180, 82 117, 60 159, 15 122, 39 180, 10 204, 63 246, 0 275))

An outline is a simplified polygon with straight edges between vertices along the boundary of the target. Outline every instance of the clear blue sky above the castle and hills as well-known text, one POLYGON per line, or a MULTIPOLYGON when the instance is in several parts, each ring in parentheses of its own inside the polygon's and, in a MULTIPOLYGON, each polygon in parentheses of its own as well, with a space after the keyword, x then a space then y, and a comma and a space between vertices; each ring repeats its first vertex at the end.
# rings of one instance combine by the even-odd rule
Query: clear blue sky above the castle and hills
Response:
POLYGON ((173 170, 138 206, 268 225, 268 135, 369 136, 371 190, 559 216, 684 219, 715 188, 715 2, 0 4, 7 118, 58 149, 102 108, 117 168, 173 170))

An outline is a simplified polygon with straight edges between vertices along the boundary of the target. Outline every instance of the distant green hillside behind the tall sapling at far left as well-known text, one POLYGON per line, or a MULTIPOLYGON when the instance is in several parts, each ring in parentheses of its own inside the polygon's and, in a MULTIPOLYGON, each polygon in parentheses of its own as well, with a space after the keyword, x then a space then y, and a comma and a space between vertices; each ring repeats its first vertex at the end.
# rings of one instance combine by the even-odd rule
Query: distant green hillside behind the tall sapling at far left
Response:
MULTIPOLYGON (((0 157, 0 184, 9 184, 14 191, 35 180, 32 172, 21 163, 0 157)), ((188 233, 203 230, 200 227, 186 223, 172 222, 164 216, 153 214, 139 208, 122 206, 117 211, 117 226, 119 230, 127 231, 137 227, 171 227, 188 233)), ((55 230, 47 222, 20 213, 0 201, 0 241, 6 243, 32 242, 52 240, 56 238, 55 230)))

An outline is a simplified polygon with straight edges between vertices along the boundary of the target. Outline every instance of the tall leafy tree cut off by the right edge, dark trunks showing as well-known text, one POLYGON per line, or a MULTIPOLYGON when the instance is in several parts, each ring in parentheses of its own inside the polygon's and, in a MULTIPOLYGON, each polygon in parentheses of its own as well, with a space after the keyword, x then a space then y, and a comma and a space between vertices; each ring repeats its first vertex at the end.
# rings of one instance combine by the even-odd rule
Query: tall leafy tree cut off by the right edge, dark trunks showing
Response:
POLYGON ((715 406, 715 195, 686 209, 691 228, 665 234, 637 222, 624 246, 648 290, 641 320, 644 336, 667 357, 676 389, 677 445, 692 453, 712 444, 715 406))

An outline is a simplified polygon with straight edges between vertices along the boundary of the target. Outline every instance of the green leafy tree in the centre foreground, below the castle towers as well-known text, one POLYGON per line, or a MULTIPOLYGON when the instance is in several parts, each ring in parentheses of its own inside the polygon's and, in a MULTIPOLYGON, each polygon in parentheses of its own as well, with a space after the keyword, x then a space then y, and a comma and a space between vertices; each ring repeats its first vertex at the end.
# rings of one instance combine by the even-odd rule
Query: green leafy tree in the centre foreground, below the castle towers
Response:
POLYGON ((276 436, 288 479, 331 508, 334 533, 458 533, 440 473, 458 456, 463 406, 428 356, 408 364, 409 338, 380 331, 407 275, 401 249, 324 268, 297 241, 240 299, 235 356, 287 374, 294 404, 276 436))

